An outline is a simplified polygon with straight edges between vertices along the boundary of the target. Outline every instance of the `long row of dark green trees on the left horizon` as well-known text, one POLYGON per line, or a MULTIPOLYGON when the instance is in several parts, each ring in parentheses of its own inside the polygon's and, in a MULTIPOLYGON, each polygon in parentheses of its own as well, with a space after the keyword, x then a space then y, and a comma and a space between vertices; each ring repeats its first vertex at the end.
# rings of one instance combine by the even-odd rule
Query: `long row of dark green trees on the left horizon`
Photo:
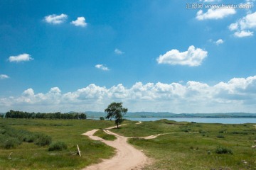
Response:
POLYGON ((6 118, 32 118, 32 119, 86 119, 85 113, 28 113, 23 111, 8 111, 6 118))

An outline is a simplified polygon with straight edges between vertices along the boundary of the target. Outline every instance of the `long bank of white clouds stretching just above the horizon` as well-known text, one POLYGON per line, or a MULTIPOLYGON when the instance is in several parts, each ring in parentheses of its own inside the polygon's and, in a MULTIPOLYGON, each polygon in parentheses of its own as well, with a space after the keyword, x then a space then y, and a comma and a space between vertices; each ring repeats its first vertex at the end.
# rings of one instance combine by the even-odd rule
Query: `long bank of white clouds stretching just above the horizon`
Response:
POLYGON ((0 111, 104 111, 112 101, 122 101, 129 111, 255 112, 255 98, 256 76, 233 78, 215 85, 198 81, 186 84, 137 82, 130 88, 122 84, 106 88, 90 84, 64 94, 58 87, 46 94, 27 89, 21 96, 0 98, 0 111))

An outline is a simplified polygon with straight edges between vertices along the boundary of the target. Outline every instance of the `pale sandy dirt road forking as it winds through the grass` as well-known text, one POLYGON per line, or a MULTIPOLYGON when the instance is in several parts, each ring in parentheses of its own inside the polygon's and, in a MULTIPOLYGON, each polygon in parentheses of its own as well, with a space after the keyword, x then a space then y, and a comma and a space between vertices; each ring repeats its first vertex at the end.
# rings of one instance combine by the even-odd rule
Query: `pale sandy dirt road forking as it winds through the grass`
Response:
MULTIPOLYGON (((114 128, 114 127, 113 127, 114 128)), ((138 170, 142 169, 145 164, 149 163, 149 158, 146 155, 132 147, 127 143, 127 139, 129 137, 123 137, 121 135, 117 135, 114 132, 110 132, 111 128, 107 128, 104 131, 110 135, 114 135, 117 137, 117 140, 109 141, 103 140, 100 137, 94 136, 93 134, 97 132, 97 130, 90 130, 85 132, 82 135, 86 135, 90 137, 92 140, 100 140, 105 144, 114 147, 117 149, 116 154, 111 159, 103 159, 103 162, 99 164, 93 164, 91 166, 85 167, 83 170, 112 170, 112 169, 122 169, 122 170, 138 170)))

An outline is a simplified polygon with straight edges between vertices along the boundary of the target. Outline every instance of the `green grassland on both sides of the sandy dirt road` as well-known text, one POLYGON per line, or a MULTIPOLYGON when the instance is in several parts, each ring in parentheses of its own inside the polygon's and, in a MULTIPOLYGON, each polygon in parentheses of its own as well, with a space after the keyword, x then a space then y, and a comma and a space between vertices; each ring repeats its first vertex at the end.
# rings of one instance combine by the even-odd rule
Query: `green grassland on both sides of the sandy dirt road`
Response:
MULTIPOLYGON (((87 130, 113 126, 113 121, 0 119, 0 123, 20 130, 41 132, 50 135, 53 142, 68 145, 68 149, 63 151, 50 152, 49 146, 38 147, 27 142, 16 149, 0 149, 0 169, 82 169, 114 154, 111 147, 81 135, 87 130), (82 157, 74 155, 77 144, 82 157)), ((130 121, 125 123, 128 125, 112 131, 132 137, 129 143, 144 150, 153 159, 153 164, 144 170, 256 169, 256 149, 252 149, 252 145, 256 145, 256 128, 252 124, 176 123, 171 120, 139 125, 130 121), (160 133, 165 135, 151 140, 139 138, 160 133), (231 152, 218 154, 216 149, 228 149, 231 152)), ((113 136, 105 134, 103 130, 96 135, 114 140, 113 136)))

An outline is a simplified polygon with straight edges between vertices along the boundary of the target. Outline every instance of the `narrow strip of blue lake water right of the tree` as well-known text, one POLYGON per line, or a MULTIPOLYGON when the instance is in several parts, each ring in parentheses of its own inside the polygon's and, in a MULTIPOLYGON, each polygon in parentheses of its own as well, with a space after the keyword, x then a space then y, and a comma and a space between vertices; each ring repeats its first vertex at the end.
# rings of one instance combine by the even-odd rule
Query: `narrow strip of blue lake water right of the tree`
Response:
POLYGON ((223 123, 242 124, 256 123, 256 118, 126 118, 134 121, 155 121, 160 119, 174 120, 176 122, 196 122, 196 123, 223 123))

